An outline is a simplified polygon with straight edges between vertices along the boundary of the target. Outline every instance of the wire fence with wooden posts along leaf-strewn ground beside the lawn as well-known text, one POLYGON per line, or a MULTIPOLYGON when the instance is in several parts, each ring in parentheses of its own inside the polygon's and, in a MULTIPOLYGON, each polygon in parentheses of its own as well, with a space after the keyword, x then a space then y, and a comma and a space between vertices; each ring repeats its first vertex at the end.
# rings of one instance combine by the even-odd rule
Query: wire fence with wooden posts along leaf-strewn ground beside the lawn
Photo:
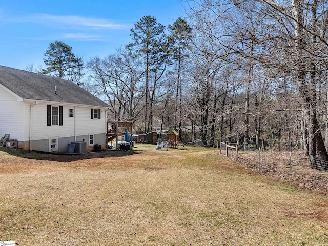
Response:
POLYGON ((233 158, 238 166, 252 168, 255 172, 271 176, 282 183, 293 184, 302 189, 328 192, 328 161, 313 159, 301 150, 277 151, 268 148, 235 148, 230 143, 218 142, 217 154, 233 158), (244 149, 246 149, 244 151, 244 149))

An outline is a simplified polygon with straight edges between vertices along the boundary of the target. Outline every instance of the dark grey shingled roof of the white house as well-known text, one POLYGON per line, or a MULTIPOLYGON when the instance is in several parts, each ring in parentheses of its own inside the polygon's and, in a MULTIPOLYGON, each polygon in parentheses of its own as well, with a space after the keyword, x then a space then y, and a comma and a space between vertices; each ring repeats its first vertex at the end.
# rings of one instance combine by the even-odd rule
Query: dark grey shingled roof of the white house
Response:
POLYGON ((23 99, 108 107, 72 81, 14 68, 0 66, 0 84, 23 99))

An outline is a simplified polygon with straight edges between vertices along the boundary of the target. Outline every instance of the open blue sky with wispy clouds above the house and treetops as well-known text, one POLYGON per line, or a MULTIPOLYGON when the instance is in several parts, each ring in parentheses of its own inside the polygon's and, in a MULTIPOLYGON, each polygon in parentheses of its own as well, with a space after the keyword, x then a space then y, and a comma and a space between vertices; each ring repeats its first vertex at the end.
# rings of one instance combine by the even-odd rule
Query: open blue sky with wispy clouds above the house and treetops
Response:
POLYGON ((130 29, 150 15, 167 26, 183 16, 180 0, 0 0, 0 65, 45 66, 51 42, 62 41, 89 60, 131 42, 130 29))

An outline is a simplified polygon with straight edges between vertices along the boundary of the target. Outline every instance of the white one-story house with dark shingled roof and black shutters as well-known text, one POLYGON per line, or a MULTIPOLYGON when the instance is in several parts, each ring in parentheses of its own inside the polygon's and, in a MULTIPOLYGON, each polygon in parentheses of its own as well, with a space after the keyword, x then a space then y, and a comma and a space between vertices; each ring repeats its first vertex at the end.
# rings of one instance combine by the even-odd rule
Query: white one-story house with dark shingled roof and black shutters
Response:
POLYGON ((71 142, 87 151, 105 148, 104 101, 73 82, 0 66, 0 137, 10 134, 25 150, 67 152, 71 142))

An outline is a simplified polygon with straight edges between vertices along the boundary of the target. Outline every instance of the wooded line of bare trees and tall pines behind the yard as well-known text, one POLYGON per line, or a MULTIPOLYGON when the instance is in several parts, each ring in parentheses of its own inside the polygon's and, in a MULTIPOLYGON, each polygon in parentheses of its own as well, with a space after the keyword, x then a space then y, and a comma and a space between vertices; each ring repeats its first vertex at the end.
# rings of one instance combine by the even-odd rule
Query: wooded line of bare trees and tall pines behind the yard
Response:
POLYGON ((310 160, 328 160, 328 3, 187 3, 184 18, 142 17, 129 44, 86 63, 110 119, 207 146, 298 139, 310 160))

